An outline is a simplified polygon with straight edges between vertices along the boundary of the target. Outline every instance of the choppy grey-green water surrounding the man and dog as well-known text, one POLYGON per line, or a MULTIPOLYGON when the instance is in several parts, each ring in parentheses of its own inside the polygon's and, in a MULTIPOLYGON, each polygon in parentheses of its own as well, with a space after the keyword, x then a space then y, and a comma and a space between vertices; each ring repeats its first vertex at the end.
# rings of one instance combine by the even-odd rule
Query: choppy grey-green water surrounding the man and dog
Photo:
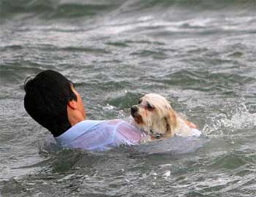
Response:
POLYGON ((0 196, 256 196, 255 10, 0 0, 0 196), (75 82, 89 119, 127 119, 140 96, 160 93, 209 142, 153 155, 59 150, 23 109, 25 78, 45 69, 75 82))

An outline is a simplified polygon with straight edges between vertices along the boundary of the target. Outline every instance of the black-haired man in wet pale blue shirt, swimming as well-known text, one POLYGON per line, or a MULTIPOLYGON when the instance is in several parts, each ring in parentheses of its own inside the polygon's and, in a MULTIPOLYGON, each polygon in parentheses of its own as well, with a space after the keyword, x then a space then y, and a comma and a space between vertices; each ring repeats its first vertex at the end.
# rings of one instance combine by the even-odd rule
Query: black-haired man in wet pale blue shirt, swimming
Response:
POLYGON ((53 134, 61 146, 108 150, 139 144, 143 132, 124 120, 86 120, 86 111, 73 83, 47 70, 25 82, 26 112, 53 134))

